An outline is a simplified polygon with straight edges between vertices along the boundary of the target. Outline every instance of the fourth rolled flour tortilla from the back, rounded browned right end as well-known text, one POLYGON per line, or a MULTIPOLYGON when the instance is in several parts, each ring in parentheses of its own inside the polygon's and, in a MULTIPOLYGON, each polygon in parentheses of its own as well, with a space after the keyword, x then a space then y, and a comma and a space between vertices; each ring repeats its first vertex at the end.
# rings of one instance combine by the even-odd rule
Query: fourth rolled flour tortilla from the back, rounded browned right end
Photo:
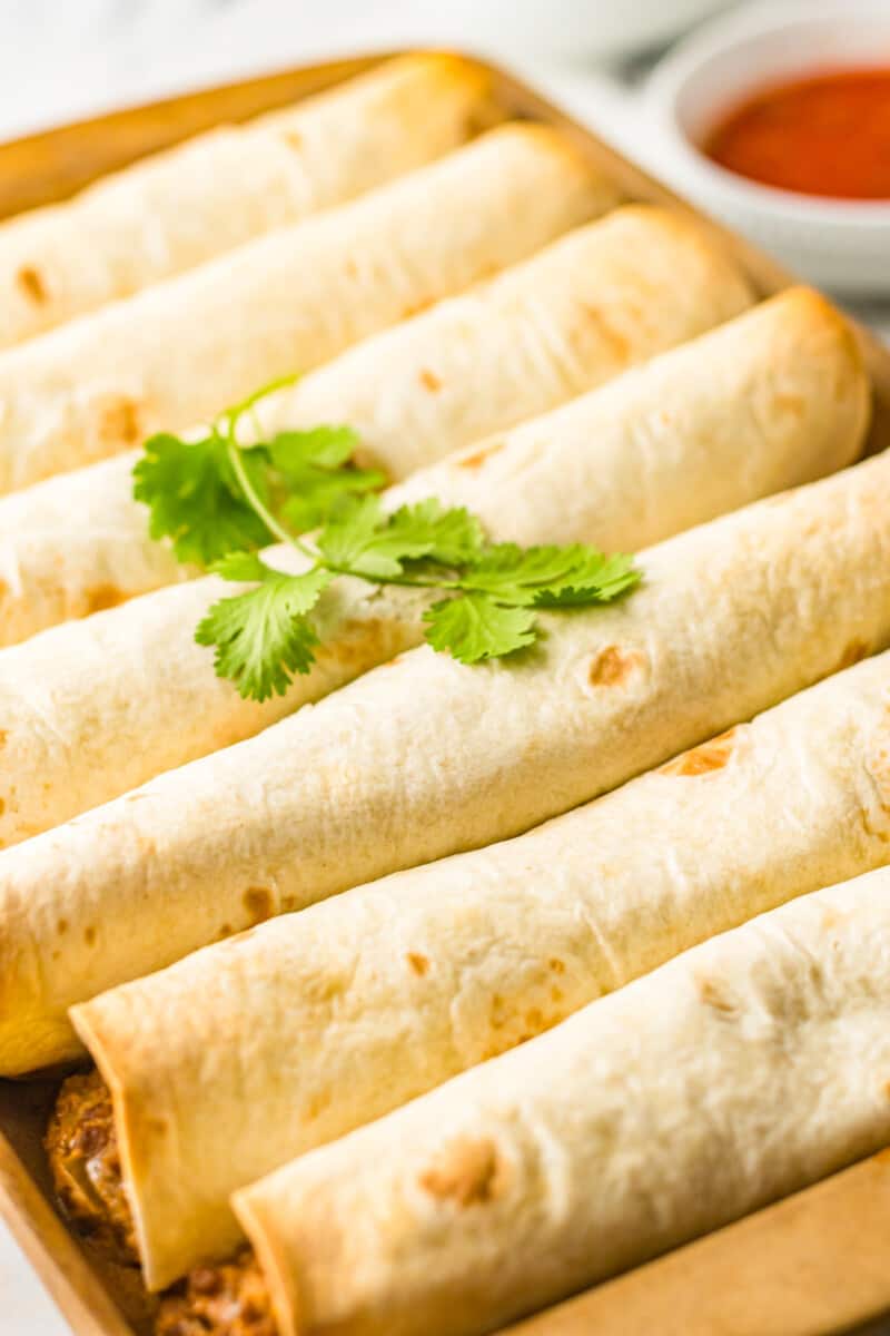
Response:
MULTIPOLYGON (((467 505, 492 536, 524 544, 636 548, 842 468, 867 418, 849 327, 801 290, 415 474, 388 502, 467 505)), ((294 566, 296 554, 274 558, 294 566)), ((319 605, 316 664, 260 705, 195 643, 234 592, 216 576, 173 585, 0 653, 0 844, 254 736, 423 639, 424 595, 340 581, 319 605)))

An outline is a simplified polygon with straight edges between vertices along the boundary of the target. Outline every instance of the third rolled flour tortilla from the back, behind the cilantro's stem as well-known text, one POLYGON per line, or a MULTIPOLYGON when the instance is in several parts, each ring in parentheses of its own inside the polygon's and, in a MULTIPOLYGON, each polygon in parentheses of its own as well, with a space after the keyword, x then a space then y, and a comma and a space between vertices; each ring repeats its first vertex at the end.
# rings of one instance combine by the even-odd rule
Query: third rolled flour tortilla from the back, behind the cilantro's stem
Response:
MULTIPOLYGON (((258 434, 350 422, 368 462, 399 481, 750 302, 735 266, 685 220, 616 210, 270 395, 258 434)), ((195 573, 148 537, 132 500, 140 454, 0 498, 0 645, 195 573)))

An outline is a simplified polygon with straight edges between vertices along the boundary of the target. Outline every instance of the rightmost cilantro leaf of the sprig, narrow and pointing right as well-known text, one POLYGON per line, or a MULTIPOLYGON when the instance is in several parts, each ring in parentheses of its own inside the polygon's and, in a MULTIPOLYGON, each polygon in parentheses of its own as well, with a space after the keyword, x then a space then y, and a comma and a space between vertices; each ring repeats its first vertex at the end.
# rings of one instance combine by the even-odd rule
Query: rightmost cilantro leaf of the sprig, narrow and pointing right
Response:
POLYGON ((483 552, 460 584, 515 607, 555 608, 607 603, 638 580, 630 557, 607 557, 580 542, 563 548, 498 542, 483 552))

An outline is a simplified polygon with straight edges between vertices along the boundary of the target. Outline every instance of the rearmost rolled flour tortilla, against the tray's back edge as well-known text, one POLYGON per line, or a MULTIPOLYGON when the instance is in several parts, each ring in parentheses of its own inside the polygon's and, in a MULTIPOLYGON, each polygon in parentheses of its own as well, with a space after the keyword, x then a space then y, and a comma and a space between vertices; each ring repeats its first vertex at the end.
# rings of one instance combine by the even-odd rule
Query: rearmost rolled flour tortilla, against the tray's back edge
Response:
POLYGON ((414 171, 495 119, 483 69, 406 56, 3 223, 0 347, 414 171))

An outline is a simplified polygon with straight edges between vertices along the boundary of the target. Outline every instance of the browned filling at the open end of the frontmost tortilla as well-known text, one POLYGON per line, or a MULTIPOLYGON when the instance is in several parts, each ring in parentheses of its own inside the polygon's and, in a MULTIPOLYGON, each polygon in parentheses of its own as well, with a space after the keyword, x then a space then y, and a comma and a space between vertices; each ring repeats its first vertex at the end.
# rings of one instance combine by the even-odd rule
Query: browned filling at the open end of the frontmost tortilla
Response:
POLYGON ((165 1295, 155 1336, 278 1336, 266 1280, 250 1248, 219 1267, 196 1267, 165 1295))

